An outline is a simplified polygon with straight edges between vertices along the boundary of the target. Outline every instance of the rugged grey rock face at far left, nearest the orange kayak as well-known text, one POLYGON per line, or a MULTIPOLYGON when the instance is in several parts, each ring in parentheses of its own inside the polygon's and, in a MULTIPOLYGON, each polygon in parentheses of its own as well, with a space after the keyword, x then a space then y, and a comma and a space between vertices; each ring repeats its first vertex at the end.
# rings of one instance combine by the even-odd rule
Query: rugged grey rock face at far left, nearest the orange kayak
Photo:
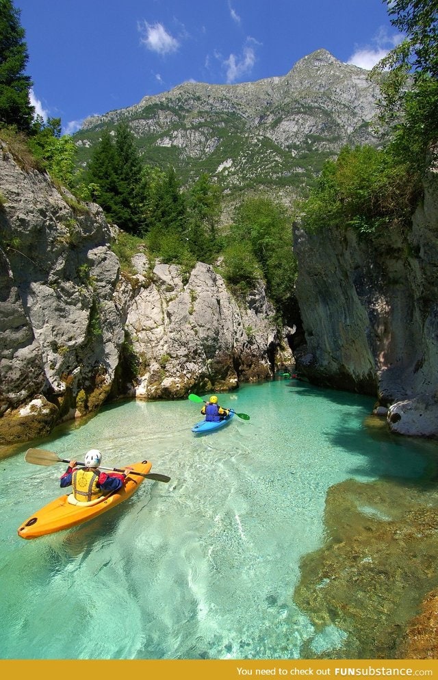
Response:
POLYGON ((0 157, 0 443, 103 403, 124 331, 119 263, 100 207, 0 157), (72 205, 73 207, 69 206, 72 205), (35 401, 35 397, 38 399, 35 401), (38 420, 38 427, 31 425, 38 420))

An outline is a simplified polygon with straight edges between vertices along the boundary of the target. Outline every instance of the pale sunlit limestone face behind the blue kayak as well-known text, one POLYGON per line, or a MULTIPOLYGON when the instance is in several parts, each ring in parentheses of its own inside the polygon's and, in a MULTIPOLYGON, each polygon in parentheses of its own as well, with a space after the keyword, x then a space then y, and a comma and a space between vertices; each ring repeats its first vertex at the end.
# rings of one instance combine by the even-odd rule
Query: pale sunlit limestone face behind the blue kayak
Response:
MULTIPOLYGON (((240 381, 272 377, 279 339, 261 284, 239 304, 207 264, 198 262, 186 284, 181 268, 157 264, 148 286, 142 273, 149 266, 146 257, 135 264, 138 285, 126 328, 140 357, 131 386, 137 398, 172 399, 190 390, 229 390, 240 381)), ((292 362, 290 350, 283 352, 292 362)))

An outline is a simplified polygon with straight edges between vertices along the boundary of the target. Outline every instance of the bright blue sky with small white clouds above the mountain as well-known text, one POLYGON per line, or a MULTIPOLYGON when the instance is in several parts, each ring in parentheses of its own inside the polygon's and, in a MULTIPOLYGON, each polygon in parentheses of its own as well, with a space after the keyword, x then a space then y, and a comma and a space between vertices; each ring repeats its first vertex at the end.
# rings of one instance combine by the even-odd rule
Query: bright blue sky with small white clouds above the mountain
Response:
POLYGON ((73 133, 87 116, 185 81, 285 75, 316 49, 372 68, 400 36, 382 0, 14 0, 32 103, 73 133))

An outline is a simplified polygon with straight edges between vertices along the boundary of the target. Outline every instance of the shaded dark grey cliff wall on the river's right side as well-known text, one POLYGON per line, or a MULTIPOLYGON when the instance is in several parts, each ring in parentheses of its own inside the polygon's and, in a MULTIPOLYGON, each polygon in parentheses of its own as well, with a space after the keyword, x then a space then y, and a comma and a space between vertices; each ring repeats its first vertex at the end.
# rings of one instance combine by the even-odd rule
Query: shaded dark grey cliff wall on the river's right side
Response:
POLYGON ((438 436, 438 181, 431 168, 410 229, 358 238, 296 229, 296 295, 311 381, 376 394, 398 433, 438 436))

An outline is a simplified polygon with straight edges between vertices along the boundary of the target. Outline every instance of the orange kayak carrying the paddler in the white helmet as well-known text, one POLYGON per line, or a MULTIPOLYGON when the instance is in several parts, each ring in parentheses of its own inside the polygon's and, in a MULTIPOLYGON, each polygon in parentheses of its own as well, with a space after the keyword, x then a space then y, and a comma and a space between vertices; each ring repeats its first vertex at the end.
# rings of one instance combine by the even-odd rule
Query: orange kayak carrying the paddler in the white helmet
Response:
MULTIPOLYGON (((147 475, 151 470, 152 464, 149 461, 144 461, 142 463, 133 463, 129 467, 133 469, 133 472, 147 475)), ((18 536, 21 536, 21 538, 39 538, 40 536, 46 536, 48 533, 63 531, 64 529, 70 529, 70 527, 82 524, 82 522, 88 522, 88 520, 94 519, 94 517, 107 512, 112 507, 129 499, 129 496, 132 496, 142 481, 144 481, 144 477, 130 473, 127 475, 122 488, 90 504, 73 504, 75 503, 73 494, 64 494, 64 496, 60 496, 55 501, 44 505, 44 507, 25 520, 18 529, 18 536)))

